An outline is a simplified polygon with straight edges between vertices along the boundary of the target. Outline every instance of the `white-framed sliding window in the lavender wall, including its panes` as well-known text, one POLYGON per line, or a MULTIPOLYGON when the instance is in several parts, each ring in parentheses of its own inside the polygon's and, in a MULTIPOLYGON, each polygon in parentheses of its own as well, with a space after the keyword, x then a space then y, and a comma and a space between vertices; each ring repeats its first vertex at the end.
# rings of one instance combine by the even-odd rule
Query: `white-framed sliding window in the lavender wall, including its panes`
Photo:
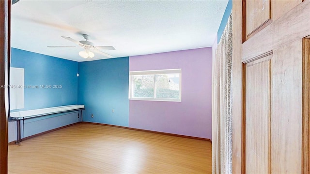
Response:
POLYGON ((181 102, 181 69, 129 72, 129 99, 181 102))

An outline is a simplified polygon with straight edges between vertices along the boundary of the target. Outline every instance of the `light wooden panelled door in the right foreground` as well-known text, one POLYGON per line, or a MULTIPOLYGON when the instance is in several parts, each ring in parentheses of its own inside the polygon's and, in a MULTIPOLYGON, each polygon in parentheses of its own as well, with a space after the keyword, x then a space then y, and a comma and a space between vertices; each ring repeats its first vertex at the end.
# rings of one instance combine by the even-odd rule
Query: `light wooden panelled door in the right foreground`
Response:
POLYGON ((233 1, 233 173, 310 173, 309 35, 309 0, 233 1))

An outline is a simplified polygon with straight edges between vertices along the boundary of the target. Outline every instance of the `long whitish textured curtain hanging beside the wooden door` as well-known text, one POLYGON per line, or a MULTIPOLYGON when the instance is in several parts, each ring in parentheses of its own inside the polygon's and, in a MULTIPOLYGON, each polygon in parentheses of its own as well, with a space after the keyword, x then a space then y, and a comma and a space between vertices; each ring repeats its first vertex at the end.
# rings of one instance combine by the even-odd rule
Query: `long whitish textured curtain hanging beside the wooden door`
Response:
POLYGON ((212 77, 212 173, 232 173, 232 14, 217 44, 212 77))

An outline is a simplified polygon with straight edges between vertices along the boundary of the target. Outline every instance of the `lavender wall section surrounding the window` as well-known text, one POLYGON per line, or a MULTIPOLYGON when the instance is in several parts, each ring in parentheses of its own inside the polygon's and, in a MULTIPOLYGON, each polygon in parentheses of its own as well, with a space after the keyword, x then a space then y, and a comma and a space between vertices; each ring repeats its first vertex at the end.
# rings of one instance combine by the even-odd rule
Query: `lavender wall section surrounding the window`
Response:
POLYGON ((212 48, 133 56, 130 71, 182 69, 182 102, 129 101, 129 127, 211 139, 212 48))

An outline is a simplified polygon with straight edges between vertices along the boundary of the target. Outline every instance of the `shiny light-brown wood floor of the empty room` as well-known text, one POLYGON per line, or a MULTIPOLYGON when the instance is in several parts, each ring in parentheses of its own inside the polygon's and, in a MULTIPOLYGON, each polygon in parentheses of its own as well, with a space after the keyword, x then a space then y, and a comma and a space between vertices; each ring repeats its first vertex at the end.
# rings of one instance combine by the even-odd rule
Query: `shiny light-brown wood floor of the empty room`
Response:
POLYGON ((211 174, 211 142, 79 123, 9 145, 9 174, 211 174))

